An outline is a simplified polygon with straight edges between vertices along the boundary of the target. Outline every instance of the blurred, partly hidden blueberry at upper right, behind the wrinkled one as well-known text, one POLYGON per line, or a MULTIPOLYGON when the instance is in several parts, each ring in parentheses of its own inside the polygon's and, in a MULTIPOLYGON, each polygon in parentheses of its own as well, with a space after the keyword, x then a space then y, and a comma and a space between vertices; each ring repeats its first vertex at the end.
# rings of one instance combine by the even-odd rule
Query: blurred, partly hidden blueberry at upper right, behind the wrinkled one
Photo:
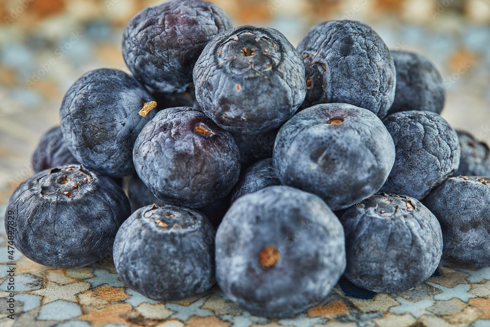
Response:
POLYGON ((391 51, 396 70, 395 100, 388 114, 426 110, 440 114, 445 90, 437 68, 420 54, 391 51))

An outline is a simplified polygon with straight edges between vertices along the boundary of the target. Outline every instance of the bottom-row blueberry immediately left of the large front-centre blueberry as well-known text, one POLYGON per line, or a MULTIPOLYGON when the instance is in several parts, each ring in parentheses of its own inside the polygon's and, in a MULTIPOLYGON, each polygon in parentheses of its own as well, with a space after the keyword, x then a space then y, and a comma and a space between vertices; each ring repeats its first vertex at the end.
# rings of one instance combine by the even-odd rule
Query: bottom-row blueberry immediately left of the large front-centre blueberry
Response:
POLYGON ((145 206, 119 229, 114 265, 124 284, 149 299, 184 299, 206 291, 216 281, 215 233, 196 210, 145 206))

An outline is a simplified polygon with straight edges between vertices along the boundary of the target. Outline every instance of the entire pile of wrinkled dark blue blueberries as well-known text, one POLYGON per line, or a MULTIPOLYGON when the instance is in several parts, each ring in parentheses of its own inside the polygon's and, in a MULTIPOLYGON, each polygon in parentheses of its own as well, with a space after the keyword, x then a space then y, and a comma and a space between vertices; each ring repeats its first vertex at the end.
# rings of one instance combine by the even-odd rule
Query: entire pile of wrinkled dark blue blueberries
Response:
POLYGON ((441 118, 423 56, 356 21, 295 49, 203 0, 143 9, 123 56, 132 76, 73 83, 8 203, 28 258, 73 268, 113 252, 150 299, 217 281, 267 317, 318 304, 342 275, 391 293, 441 256, 490 266, 490 150, 441 118))

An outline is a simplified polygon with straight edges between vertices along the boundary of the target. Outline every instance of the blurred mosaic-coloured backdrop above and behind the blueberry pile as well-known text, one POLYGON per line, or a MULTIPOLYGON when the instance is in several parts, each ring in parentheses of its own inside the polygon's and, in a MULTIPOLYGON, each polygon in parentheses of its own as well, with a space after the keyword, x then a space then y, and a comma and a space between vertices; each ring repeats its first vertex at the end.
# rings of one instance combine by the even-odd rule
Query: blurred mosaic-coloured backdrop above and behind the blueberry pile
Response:
MULTIPOLYGON (((0 203, 32 175, 65 91, 101 67, 127 72, 125 25, 155 0, 0 0, 0 203)), ((490 0, 212 0, 234 25, 280 30, 296 46, 333 19, 371 25, 392 50, 428 57, 446 87, 441 113, 490 141, 490 0)))

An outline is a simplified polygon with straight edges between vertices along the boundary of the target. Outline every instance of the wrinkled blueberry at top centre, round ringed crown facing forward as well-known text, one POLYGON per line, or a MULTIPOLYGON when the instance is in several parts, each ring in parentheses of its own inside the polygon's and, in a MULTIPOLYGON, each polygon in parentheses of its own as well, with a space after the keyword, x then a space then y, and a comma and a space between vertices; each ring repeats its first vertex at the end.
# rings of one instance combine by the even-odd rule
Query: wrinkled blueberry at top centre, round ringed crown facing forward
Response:
POLYGON ((304 75, 303 60, 281 32, 240 26, 218 34, 197 59, 196 100, 223 129, 265 133, 301 105, 304 75))

